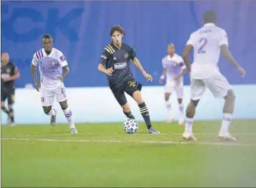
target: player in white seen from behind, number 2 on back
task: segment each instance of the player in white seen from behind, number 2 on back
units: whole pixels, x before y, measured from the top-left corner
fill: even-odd
[[[216,27],[217,16],[213,11],[207,11],[203,15],[204,26],[190,35],[187,46],[183,51],[185,65],[191,78],[191,101],[187,106],[185,118],[185,140],[194,140],[192,133],[193,118],[196,112],[196,106],[203,96],[206,87],[213,93],[215,98],[224,98],[222,126],[219,132],[219,138],[222,140],[236,140],[229,134],[229,124],[231,122],[235,95],[228,80],[220,73],[217,63],[219,61],[220,51],[227,61],[229,61],[236,70],[245,76],[245,70],[236,63],[231,52],[228,49],[228,36],[222,28]],[[190,66],[189,54],[194,48],[194,62]]]

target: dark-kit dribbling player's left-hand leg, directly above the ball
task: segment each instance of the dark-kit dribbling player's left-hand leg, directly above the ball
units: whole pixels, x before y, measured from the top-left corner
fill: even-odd
[[[112,90],[112,93],[121,108],[123,108],[124,115],[126,115],[127,118],[135,119],[135,116],[133,116],[129,104],[127,103],[126,96],[124,95],[124,87],[120,87],[117,90]]]

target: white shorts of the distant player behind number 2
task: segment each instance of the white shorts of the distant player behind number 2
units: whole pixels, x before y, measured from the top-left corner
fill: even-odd
[[[183,98],[183,80],[179,82],[167,82],[165,84],[165,93],[173,93],[175,90],[178,99]]]

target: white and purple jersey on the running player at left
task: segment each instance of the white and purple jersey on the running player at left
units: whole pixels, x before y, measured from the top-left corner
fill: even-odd
[[[56,48],[52,49],[49,56],[43,48],[37,51],[31,63],[39,65],[41,87],[45,89],[55,89],[61,83],[57,77],[62,76],[62,67],[68,65],[65,56]]]

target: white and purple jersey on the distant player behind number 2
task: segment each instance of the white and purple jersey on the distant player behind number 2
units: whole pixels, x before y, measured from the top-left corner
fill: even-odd
[[[166,69],[167,82],[174,82],[174,77],[180,75],[186,68],[182,57],[178,54],[174,54],[172,57],[165,56],[162,59],[162,67]],[[180,77],[180,80],[183,80],[183,76]]]

